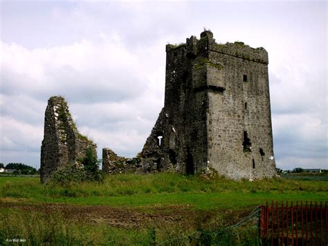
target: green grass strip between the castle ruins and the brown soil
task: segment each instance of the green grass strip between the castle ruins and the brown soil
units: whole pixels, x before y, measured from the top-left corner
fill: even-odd
[[[266,200],[327,200],[328,182],[262,179],[234,181],[224,177],[109,175],[104,183],[42,185],[37,178],[0,177],[0,195],[26,202],[147,207],[152,204],[189,204],[194,209],[243,209]]]

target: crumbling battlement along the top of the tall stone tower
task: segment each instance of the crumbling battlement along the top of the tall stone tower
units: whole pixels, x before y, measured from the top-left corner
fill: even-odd
[[[204,56],[208,51],[213,51],[244,60],[268,64],[268,53],[264,48],[255,49],[244,44],[244,42],[217,44],[210,30],[204,30],[200,39],[191,36],[186,39],[185,44],[167,44],[166,46],[167,53],[176,52],[179,49],[185,49],[189,58],[196,58],[199,55]]]

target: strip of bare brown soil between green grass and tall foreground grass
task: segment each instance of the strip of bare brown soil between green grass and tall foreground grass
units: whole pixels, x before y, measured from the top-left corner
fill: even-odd
[[[105,223],[118,228],[142,228],[147,226],[179,225],[183,228],[195,228],[198,225],[222,225],[228,221],[233,225],[248,211],[197,211],[188,205],[151,206],[142,209],[118,208],[109,206],[73,206],[67,204],[21,204],[17,201],[1,200],[0,209],[21,209],[36,211],[45,215],[60,215],[78,223]]]

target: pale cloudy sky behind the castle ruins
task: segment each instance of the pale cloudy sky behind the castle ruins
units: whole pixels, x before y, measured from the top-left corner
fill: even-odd
[[[0,1],[0,162],[39,167],[47,100],[80,132],[140,152],[163,107],[165,45],[210,28],[263,46],[278,168],[328,168],[326,1]]]

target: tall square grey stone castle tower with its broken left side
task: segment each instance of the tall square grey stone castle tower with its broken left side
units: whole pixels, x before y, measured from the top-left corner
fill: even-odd
[[[273,177],[266,50],[217,44],[205,30],[166,53],[165,104],[141,152],[143,168]]]

